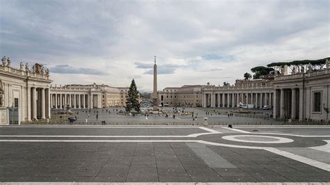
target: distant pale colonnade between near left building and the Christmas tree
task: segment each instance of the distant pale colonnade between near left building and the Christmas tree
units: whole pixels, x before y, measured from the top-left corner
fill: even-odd
[[[52,108],[101,108],[101,95],[52,93]]]

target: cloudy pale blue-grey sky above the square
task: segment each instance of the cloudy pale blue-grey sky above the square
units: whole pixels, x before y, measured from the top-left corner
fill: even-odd
[[[152,91],[231,84],[251,68],[330,54],[329,1],[0,0],[0,55],[53,84]]]

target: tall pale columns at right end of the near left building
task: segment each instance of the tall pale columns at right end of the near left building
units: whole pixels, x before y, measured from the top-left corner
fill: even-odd
[[[26,120],[50,118],[49,88],[29,87],[26,92]]]

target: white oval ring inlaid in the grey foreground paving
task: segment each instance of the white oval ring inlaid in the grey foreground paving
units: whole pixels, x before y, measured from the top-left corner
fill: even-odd
[[[239,139],[238,137],[247,137],[246,139]],[[249,138],[274,138],[275,140],[249,140]],[[274,136],[253,136],[253,135],[233,135],[233,136],[223,136],[223,139],[226,140],[233,140],[237,142],[244,142],[244,143],[291,143],[293,142],[290,138],[281,138],[281,137],[274,137]]]

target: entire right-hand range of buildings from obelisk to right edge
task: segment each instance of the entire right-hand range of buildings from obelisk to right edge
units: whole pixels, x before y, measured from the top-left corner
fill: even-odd
[[[265,79],[236,80],[233,86],[182,86],[159,91],[162,106],[235,108],[239,103],[253,108],[273,108],[274,118],[330,120],[330,67],[288,72]]]

